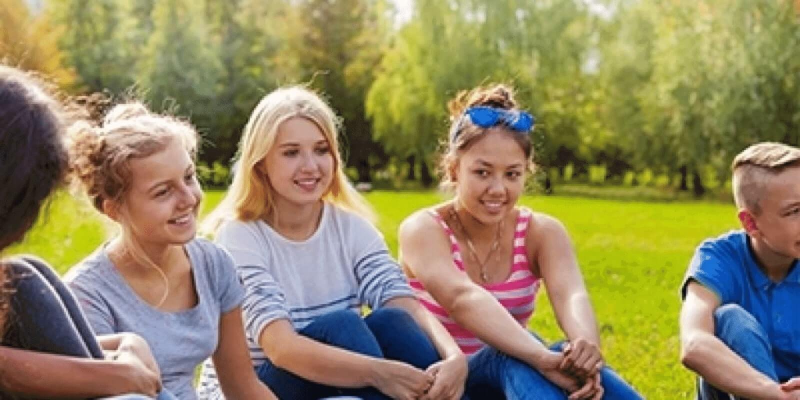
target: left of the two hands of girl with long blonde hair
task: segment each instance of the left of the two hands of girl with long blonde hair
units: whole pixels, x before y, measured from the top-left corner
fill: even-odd
[[[405,362],[378,360],[373,385],[390,398],[416,400],[434,383],[434,377]]]

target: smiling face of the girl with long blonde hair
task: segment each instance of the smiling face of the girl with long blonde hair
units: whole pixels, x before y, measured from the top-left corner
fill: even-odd
[[[262,161],[274,189],[275,206],[311,206],[330,189],[334,156],[322,130],[309,119],[294,117],[278,127],[274,146]]]

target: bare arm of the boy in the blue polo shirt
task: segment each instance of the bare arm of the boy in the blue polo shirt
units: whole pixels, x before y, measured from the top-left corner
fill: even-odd
[[[714,336],[717,295],[689,282],[681,308],[681,362],[720,390],[743,398],[789,398],[777,382],[754,370]],[[720,368],[719,366],[725,366]]]

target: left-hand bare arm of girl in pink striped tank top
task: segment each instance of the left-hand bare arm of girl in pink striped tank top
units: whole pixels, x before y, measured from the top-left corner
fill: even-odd
[[[494,296],[453,266],[450,242],[430,215],[418,212],[406,219],[398,239],[406,268],[458,325],[542,372],[562,361],[561,354],[551,352],[533,338]],[[548,378],[554,382],[560,379],[550,375]],[[575,387],[574,382],[556,383],[573,390]]]

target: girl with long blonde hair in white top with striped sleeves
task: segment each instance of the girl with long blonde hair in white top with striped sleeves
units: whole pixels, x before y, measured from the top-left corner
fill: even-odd
[[[262,98],[207,221],[244,280],[258,376],[280,398],[460,398],[463,354],[414,300],[347,182],[337,121],[303,87]],[[214,390],[212,370],[203,382]]]

